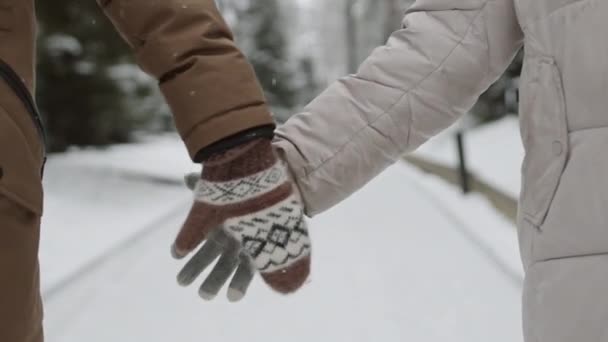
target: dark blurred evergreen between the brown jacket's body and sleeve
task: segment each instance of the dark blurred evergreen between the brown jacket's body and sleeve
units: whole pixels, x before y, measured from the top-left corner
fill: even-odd
[[[130,53],[95,1],[40,1],[37,98],[51,151],[126,142],[145,119],[133,97],[152,82],[125,86]]]

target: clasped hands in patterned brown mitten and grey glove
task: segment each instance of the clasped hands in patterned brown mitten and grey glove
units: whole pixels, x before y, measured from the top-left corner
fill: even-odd
[[[281,293],[299,289],[310,272],[311,244],[304,208],[287,166],[270,141],[258,139],[204,163],[195,202],[172,248],[181,259],[203,245],[178,275],[189,285],[219,256],[200,288],[214,298],[237,269],[228,290],[241,299],[254,270]]]

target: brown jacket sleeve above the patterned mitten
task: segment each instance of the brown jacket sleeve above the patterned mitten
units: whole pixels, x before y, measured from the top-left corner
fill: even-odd
[[[190,155],[251,128],[273,125],[252,67],[214,0],[97,0],[159,80]]]

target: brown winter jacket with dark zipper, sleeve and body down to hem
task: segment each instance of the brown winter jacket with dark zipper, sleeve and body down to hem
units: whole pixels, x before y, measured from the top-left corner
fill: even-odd
[[[193,159],[226,137],[273,125],[253,69],[213,0],[98,3],[133,49],[137,63],[158,79]],[[9,83],[17,88],[24,83],[28,90],[0,82],[0,109],[6,111],[0,111],[0,193],[40,214],[42,129],[32,124],[37,115],[24,108],[24,103],[33,105],[34,12],[33,0],[0,0],[0,60],[11,69],[8,73],[16,73],[12,78],[17,82]]]

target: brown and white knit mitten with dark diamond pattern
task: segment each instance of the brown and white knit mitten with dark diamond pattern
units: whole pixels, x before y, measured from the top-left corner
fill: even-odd
[[[203,165],[174,256],[185,257],[213,230],[223,229],[270,287],[282,293],[300,288],[310,272],[304,209],[270,141],[241,145]]]

